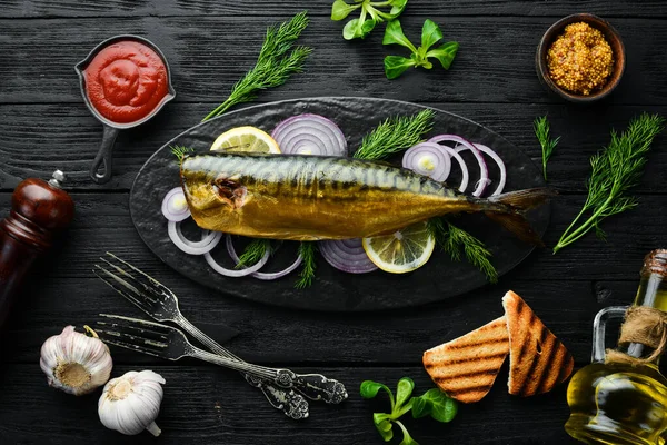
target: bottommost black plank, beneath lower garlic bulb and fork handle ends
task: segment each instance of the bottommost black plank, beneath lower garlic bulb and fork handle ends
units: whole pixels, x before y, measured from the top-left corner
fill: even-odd
[[[112,377],[141,366],[116,366]],[[257,389],[241,378],[212,366],[150,366],[165,377],[165,398],[156,423],[162,428],[161,444],[295,444],[368,445],[382,443],[372,425],[372,413],[389,407],[384,395],[365,400],[358,387],[364,379],[384,382],[390,387],[404,376],[415,379],[420,395],[432,383],[420,367],[301,368],[322,372],[346,384],[350,397],[341,405],[310,404],[310,417],[295,422],[275,411]],[[567,407],[560,402],[565,387],[554,393],[521,399],[507,394],[507,372],[480,403],[460,406],[449,424],[405,416],[410,435],[420,444],[537,445],[571,444],[563,424]],[[98,419],[92,395],[72,397],[47,386],[37,365],[7,365],[0,382],[11,383],[0,392],[0,439],[20,444],[143,444],[148,433],[121,436],[106,429]],[[3,385],[4,386],[4,385]],[[28,407],[34,407],[29,409]],[[39,408],[37,408],[39,407]],[[532,413],[526,416],[526,413]],[[508,419],[512,419],[508,423]],[[404,418],[401,418],[404,421]],[[396,437],[400,437],[398,427]],[[396,442],[398,443],[398,441]]]

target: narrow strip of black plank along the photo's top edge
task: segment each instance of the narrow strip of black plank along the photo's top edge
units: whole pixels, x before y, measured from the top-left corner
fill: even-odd
[[[4,0],[0,17],[143,17],[143,16],[269,16],[295,13],[308,8],[311,14],[328,17],[334,0]],[[606,17],[655,17],[665,14],[661,0],[645,0],[636,8],[631,0],[438,0],[410,1],[408,13],[432,16],[434,11],[448,16],[566,16],[573,12],[591,12]]]

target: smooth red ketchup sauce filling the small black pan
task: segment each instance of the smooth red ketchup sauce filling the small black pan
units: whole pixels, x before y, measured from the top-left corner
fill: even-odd
[[[146,118],[169,93],[165,62],[156,51],[138,41],[123,40],[103,48],[83,76],[90,103],[117,123]]]

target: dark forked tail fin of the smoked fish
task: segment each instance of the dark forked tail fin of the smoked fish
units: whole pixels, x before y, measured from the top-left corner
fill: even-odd
[[[491,209],[486,211],[486,216],[511,231],[520,240],[544,247],[544,241],[530,227],[525,212],[545,204],[556,195],[556,191],[549,188],[530,188],[494,196],[488,199]]]

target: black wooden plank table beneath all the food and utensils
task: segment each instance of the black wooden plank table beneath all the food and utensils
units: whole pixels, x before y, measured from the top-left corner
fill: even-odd
[[[660,137],[638,187],[640,206],[605,222],[608,243],[588,236],[551,255],[535,251],[497,285],[440,304],[368,314],[296,312],[218,295],[163,265],[137,235],[128,211],[132,179],[165,141],[197,123],[252,66],[270,22],[307,8],[312,18],[305,44],[315,49],[308,68],[259,101],[365,96],[429,105],[476,120],[504,135],[536,160],[535,117],[549,113],[563,139],[550,167],[554,202],[546,243],[554,245],[584,200],[588,159],[640,111],[667,115],[667,3],[664,0],[410,0],[401,19],[411,37],[426,18],[446,39],[460,42],[450,71],[414,71],[395,81],[382,72],[389,53],[381,31],[347,42],[329,19],[331,0],[32,0],[0,2],[0,214],[27,177],[67,171],[77,217],[63,243],[32,273],[0,343],[1,444],[379,444],[374,411],[358,386],[370,378],[394,386],[410,376],[417,392],[432,386],[421,353],[501,314],[500,297],[514,289],[573,352],[577,367],[590,355],[597,310],[631,301],[643,256],[666,247],[667,138]],[[627,70],[605,102],[584,108],[549,97],[535,75],[534,57],[545,30],[560,17],[593,12],[621,33]],[[83,106],[73,71],[99,41],[135,33],[166,53],[178,91],[158,117],[125,131],[117,141],[116,175],[96,186],[88,169],[101,127]],[[166,379],[158,418],[162,436],[125,437],[98,421],[99,392],[73,397],[47,386],[42,342],[66,325],[82,326],[97,314],[140,315],[91,273],[96,258],[113,250],[172,288],[186,315],[216,337],[230,326],[240,334],[228,346],[249,360],[299,372],[322,372],[344,382],[349,400],[311,404],[306,422],[269,407],[233,372],[195,360],[170,363],[113,349],[113,376],[153,369]],[[444,278],[446,278],[446,271]],[[312,295],[312,298],[318,298]],[[511,397],[507,370],[480,403],[461,406],[447,425],[408,419],[421,444],[565,444],[565,385],[529,399]],[[395,439],[395,443],[399,441]]]

